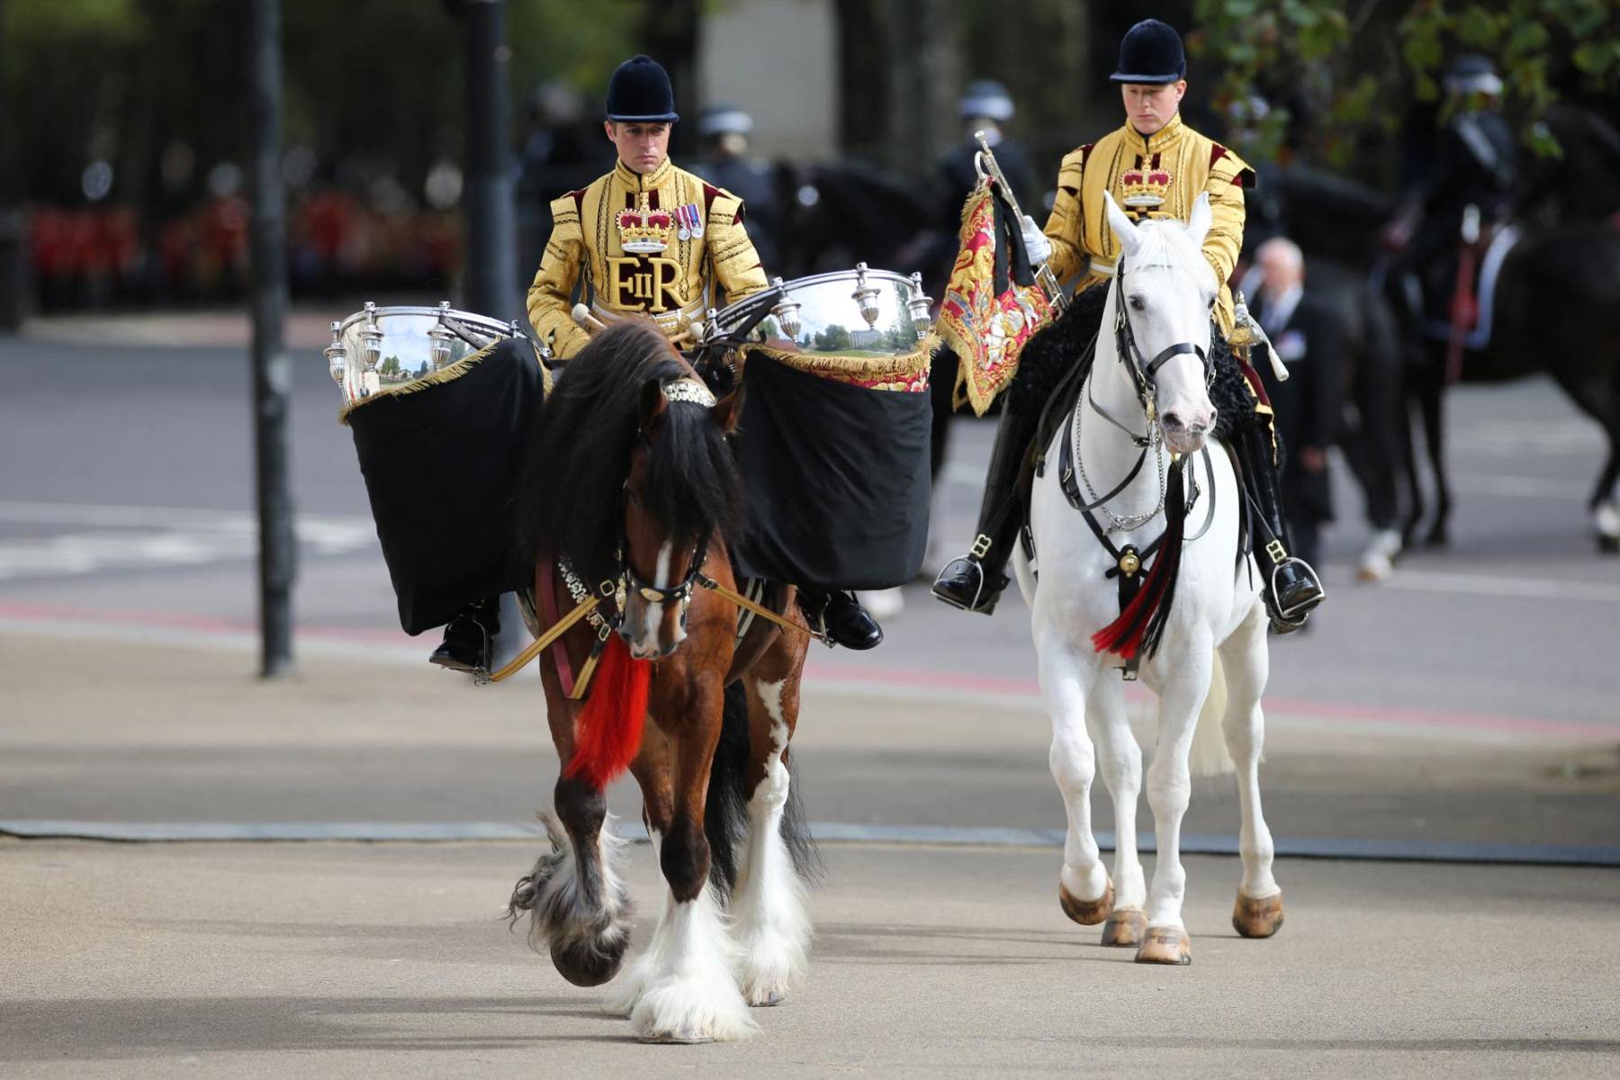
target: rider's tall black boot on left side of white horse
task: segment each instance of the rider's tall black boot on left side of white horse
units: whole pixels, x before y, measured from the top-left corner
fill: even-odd
[[[978,507],[978,538],[972,551],[946,563],[933,583],[933,594],[953,607],[988,615],[1008,586],[1008,559],[1024,526],[1019,476],[1038,424],[1040,410],[1021,410],[1014,395],[1001,395],[1001,424],[985,473],[985,500]]]

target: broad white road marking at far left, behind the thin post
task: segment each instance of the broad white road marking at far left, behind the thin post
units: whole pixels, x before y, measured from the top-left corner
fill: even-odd
[[[0,539],[0,581],[105,570],[191,567],[253,559],[258,518],[243,510],[0,502],[0,523],[76,531]],[[313,557],[374,551],[371,518],[298,515],[293,534]]]

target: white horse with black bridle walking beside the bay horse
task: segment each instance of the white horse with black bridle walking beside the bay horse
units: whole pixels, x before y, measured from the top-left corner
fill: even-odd
[[[1259,568],[1251,555],[1238,557],[1238,478],[1220,444],[1210,440],[1215,408],[1205,366],[1217,282],[1200,253],[1210,228],[1209,198],[1199,196],[1186,225],[1132,223],[1110,199],[1108,222],[1119,238],[1119,275],[1110,285],[1095,363],[1076,411],[1047,447],[1032,494],[1038,580],[1022,552],[1016,570],[1032,609],[1040,688],[1051,714],[1051,774],[1069,818],[1058,879],[1063,910],[1082,925],[1106,920],[1103,942],[1137,946],[1139,962],[1189,963],[1179,853],[1192,789],[1189,758],[1213,758],[1215,767],[1200,771],[1230,771],[1236,763],[1243,882],[1233,925],[1246,938],[1268,938],[1283,921],[1259,784],[1267,615]],[[1116,322],[1119,304],[1124,322]],[[1105,549],[1063,491],[1058,463],[1063,440],[1071,437],[1072,484],[1084,504],[1100,502],[1095,520],[1111,529],[1108,539],[1124,559]],[[1207,440],[1212,445],[1205,450]],[[1166,470],[1170,455],[1184,455],[1184,484],[1179,470]],[[1131,478],[1137,461],[1142,466]],[[1121,562],[1129,568],[1136,559],[1139,573],[1150,576],[1163,559],[1145,552],[1165,529],[1165,505],[1174,499],[1191,499],[1191,507],[1173,604],[1157,651],[1140,657],[1140,678],[1160,706],[1158,748],[1147,769],[1158,861],[1147,889],[1136,847],[1142,751],[1126,719],[1121,657],[1098,651],[1092,635],[1121,614],[1116,578],[1105,575]],[[1128,544],[1132,549],[1124,552]],[[1196,737],[1196,730],[1213,727],[1200,719],[1220,719],[1230,758],[1218,737]],[[1090,787],[1098,759],[1115,800],[1111,879],[1092,836]]]

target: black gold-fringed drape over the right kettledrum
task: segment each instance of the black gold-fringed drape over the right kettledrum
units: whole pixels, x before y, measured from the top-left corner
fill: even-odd
[[[748,350],[739,575],[834,589],[917,576],[928,549],[927,372],[927,348],[875,358]]]

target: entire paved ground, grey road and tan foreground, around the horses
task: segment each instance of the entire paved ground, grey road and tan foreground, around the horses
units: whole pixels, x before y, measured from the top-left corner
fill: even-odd
[[[340,314],[340,313],[339,313]],[[309,317],[305,322],[319,324]],[[531,678],[475,690],[407,640],[337,395],[293,381],[300,672],[253,677],[240,325],[0,337],[0,821],[522,823],[557,763]],[[1453,400],[1456,546],[1349,585],[1278,641],[1280,840],[1614,848],[1620,560],[1584,494],[1597,432],[1547,385]],[[970,533],[987,424],[959,426],[936,523]],[[1055,829],[1022,607],[923,586],[875,654],[818,649],[797,746],[818,823]],[[1139,706],[1140,708],[1140,706]],[[1098,801],[1097,826],[1111,827]],[[637,816],[620,784],[616,813]],[[1230,836],[1202,782],[1189,832]],[[1145,813],[1145,811],[1144,811]],[[1027,836],[1024,832],[1017,836]],[[1196,962],[1063,920],[1051,847],[829,844],[812,981],[745,1046],[642,1048],[494,918],[535,844],[0,839],[6,1075],[1610,1075],[1617,873],[1281,858],[1288,926],[1231,936],[1236,863],[1189,857]],[[650,931],[658,882],[635,848]]]

